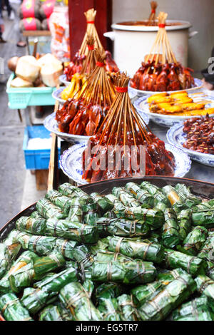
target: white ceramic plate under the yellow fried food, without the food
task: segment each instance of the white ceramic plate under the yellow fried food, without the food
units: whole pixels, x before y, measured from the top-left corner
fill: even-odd
[[[138,113],[146,113],[151,120],[153,120],[154,123],[157,123],[158,125],[162,125],[163,127],[170,128],[175,123],[179,123],[183,120],[186,120],[187,118],[199,118],[200,115],[193,115],[193,116],[182,116],[182,115],[165,115],[165,114],[158,114],[158,113],[151,113],[149,110],[149,105],[146,102],[148,96],[142,96],[141,98],[138,98],[133,105],[135,106],[136,110],[138,110]],[[196,100],[194,98],[193,100]],[[214,107],[214,98],[213,96],[206,97],[206,100],[210,100],[211,103],[207,103],[205,105],[206,108],[213,108]],[[214,114],[210,114],[210,116],[214,116]]]

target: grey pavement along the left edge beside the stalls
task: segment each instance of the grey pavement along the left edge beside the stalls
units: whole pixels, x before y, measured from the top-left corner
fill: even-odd
[[[12,6],[17,8],[16,4]],[[16,46],[20,37],[17,20],[16,16],[15,21],[9,21],[4,12],[4,39],[7,43],[0,44],[0,57],[4,58],[4,76],[0,75],[0,227],[44,195],[44,192],[36,190],[35,176],[25,168],[22,150],[26,126],[24,110],[21,110],[21,123],[17,110],[8,107],[6,81],[11,72],[7,60],[26,54],[26,48]]]

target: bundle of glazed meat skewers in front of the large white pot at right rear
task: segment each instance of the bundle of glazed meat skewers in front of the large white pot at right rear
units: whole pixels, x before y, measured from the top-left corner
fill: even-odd
[[[150,53],[131,78],[131,87],[140,91],[183,91],[195,87],[190,68],[179,63],[170,46],[165,21],[168,14],[158,15],[158,31]]]

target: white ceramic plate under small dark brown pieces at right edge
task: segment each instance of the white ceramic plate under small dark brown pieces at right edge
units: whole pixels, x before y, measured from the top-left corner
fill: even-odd
[[[173,127],[168,130],[166,136],[170,144],[182,149],[190,156],[192,160],[196,160],[201,164],[214,167],[214,155],[208,153],[198,153],[198,151],[183,148],[183,143],[186,140],[185,133],[183,133],[183,123],[176,123],[173,125]]]

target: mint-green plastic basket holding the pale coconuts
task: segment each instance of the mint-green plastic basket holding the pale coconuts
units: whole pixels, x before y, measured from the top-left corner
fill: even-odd
[[[24,109],[28,106],[36,105],[55,105],[55,99],[52,97],[55,87],[27,87],[12,88],[11,81],[15,74],[12,73],[6,83],[6,93],[9,98],[9,108]]]

